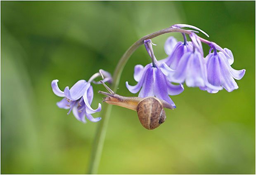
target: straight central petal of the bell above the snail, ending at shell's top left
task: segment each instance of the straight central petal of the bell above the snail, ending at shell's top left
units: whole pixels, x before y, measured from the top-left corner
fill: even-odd
[[[153,79],[153,70],[155,67],[148,68],[145,72],[145,78],[143,81],[142,88],[140,90],[139,96],[141,98],[153,97],[154,96],[154,79]]]

